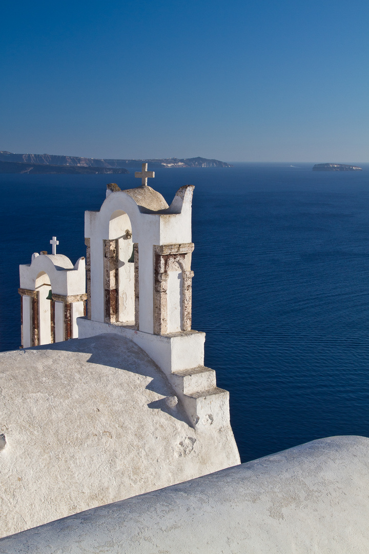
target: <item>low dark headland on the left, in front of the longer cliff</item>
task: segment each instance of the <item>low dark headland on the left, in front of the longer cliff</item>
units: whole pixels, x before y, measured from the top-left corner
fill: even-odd
[[[51,166],[40,163],[19,163],[0,161],[0,173],[35,173],[37,175],[50,173],[67,173],[70,175],[86,174],[95,175],[96,173],[129,173],[124,168],[113,167],[81,167],[81,166]]]

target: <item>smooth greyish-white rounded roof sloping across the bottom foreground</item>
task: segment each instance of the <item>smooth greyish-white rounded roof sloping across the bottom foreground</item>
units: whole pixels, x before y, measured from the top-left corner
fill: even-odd
[[[5,538],[0,554],[367,554],[368,496],[369,439],[330,437]]]

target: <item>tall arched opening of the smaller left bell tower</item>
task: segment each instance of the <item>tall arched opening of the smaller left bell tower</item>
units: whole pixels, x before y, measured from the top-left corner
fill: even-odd
[[[40,271],[35,280],[38,296],[38,344],[47,345],[54,342],[54,329],[51,314],[51,283],[45,271]]]

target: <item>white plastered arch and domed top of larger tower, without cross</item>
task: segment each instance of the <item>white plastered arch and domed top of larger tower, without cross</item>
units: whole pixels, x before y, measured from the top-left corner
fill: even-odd
[[[85,237],[91,255],[91,319],[105,322],[109,310],[105,301],[104,240],[109,240],[112,216],[127,214],[132,225],[132,242],[138,244],[139,329],[153,333],[153,247],[191,242],[193,186],[181,187],[171,206],[151,187],[107,191],[100,211],[85,212]],[[114,219],[114,218],[113,218]],[[112,287],[113,290],[114,287]]]

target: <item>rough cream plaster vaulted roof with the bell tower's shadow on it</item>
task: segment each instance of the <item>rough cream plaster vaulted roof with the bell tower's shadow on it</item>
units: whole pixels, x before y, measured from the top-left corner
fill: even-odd
[[[1,353],[0,391],[0,536],[237,460],[231,428],[190,427],[163,373],[122,336]]]

